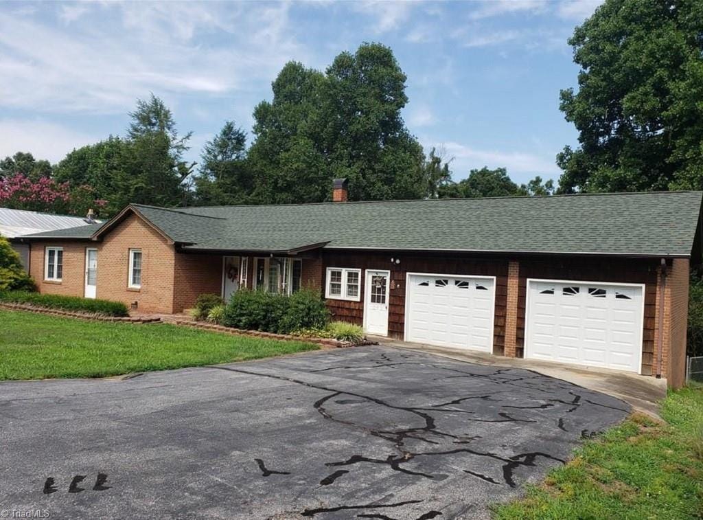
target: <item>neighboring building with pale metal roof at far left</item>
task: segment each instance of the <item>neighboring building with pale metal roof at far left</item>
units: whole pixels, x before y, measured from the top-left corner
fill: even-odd
[[[39,211],[13,210],[0,208],[0,236],[13,239],[16,236],[36,234],[67,227],[81,227],[89,224],[91,215],[86,218],[70,217],[68,215],[53,215]],[[95,220],[94,222],[100,222]],[[30,246],[26,243],[15,242],[13,249],[20,253],[20,260],[25,269],[30,265]]]

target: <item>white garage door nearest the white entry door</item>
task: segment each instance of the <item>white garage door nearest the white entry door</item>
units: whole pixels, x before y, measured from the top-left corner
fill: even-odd
[[[406,341],[493,350],[495,280],[408,274]]]

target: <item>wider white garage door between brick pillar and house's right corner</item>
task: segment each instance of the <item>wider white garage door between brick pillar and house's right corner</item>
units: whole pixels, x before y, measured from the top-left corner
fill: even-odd
[[[527,282],[525,357],[640,372],[643,288]]]

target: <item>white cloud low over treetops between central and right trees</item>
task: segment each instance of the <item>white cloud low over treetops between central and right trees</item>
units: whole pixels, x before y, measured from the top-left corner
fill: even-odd
[[[541,175],[545,179],[558,177],[561,171],[555,164],[554,158],[536,156],[531,153],[482,150],[453,141],[441,143],[430,139],[423,140],[423,144],[425,144],[426,150],[431,149],[433,146],[437,148],[444,147],[446,157],[454,158],[451,168],[454,172],[453,177],[456,180],[467,177],[469,170],[472,168],[484,166],[489,168],[507,168],[508,175],[515,182],[526,182],[529,177],[534,177],[534,175]]]

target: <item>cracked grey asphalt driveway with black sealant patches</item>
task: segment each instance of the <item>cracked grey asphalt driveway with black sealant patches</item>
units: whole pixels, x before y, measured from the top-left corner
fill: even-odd
[[[382,347],[6,382],[0,511],[481,518],[628,410],[527,370]]]

